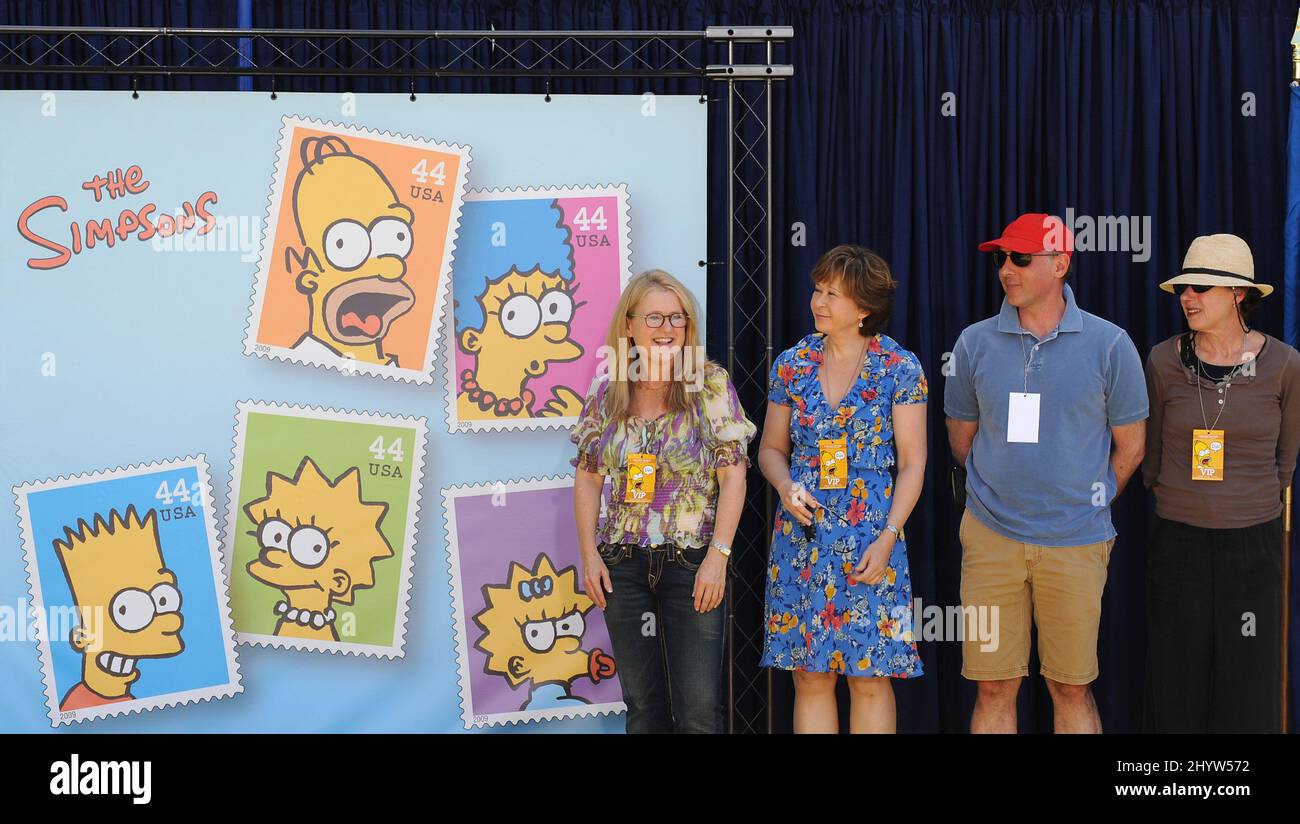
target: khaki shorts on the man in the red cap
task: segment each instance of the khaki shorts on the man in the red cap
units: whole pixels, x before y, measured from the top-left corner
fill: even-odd
[[[966,615],[962,676],[1002,681],[1030,675],[1032,620],[1039,626],[1044,677],[1060,684],[1095,681],[1101,591],[1114,539],[1087,546],[1022,543],[993,532],[970,511],[962,516],[959,537]],[[992,607],[997,607],[996,624]],[[972,632],[972,620],[996,632],[985,632],[982,639]],[[992,642],[996,647],[988,649]]]

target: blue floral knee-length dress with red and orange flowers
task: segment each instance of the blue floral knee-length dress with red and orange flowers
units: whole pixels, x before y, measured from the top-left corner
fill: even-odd
[[[875,335],[864,368],[838,406],[823,395],[826,337],[807,335],[772,365],[767,398],[790,407],[790,477],[816,496],[814,525],[780,507],[767,574],[762,665],[850,676],[911,678],[923,673],[913,636],[907,546],[894,543],[880,584],[850,585],[848,574],[884,529],[896,463],[893,406],[926,403],[920,361]],[[822,438],[848,438],[844,490],[819,486]]]

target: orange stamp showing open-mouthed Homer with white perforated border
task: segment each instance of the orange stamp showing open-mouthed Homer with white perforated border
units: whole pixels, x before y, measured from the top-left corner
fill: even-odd
[[[285,117],[244,354],[428,383],[469,148]]]

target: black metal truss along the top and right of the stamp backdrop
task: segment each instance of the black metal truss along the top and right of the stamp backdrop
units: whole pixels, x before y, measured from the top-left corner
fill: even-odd
[[[441,78],[699,78],[724,86],[727,116],[727,370],[741,403],[767,406],[772,364],[772,90],[793,74],[774,62],[789,26],[703,31],[354,31],[0,26],[0,75]],[[73,79],[73,83],[77,81]],[[582,91],[576,86],[572,91]],[[716,309],[715,309],[716,311]],[[757,451],[757,444],[753,447]],[[771,732],[763,649],[772,495],[750,470],[727,597],[727,729]]]

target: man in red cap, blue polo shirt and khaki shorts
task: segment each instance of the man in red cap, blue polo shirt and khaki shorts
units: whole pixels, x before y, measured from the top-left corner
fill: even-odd
[[[962,642],[962,675],[979,684],[971,732],[1015,732],[1032,623],[1056,730],[1101,732],[1089,685],[1110,502],[1143,457],[1141,359],[1123,329],[1075,303],[1074,238],[1060,218],[1022,214],[979,248],[1006,299],[962,331],[944,387],[948,441],[966,467],[962,606],[996,613],[979,625],[997,628]]]

